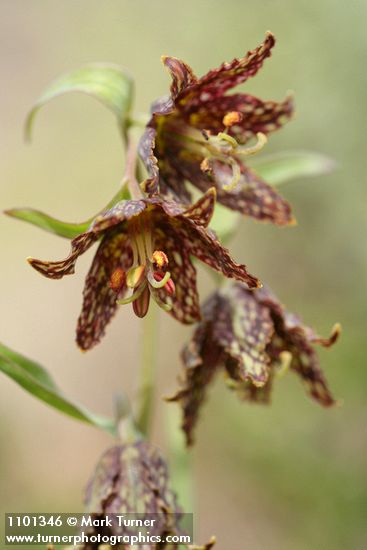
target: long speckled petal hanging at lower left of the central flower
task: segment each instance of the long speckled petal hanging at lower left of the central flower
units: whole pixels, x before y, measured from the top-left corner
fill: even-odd
[[[82,350],[91,349],[105,334],[105,328],[117,309],[117,298],[122,298],[110,288],[109,281],[116,268],[125,272],[131,267],[132,252],[125,234],[108,232],[99,245],[85,281],[83,306],[77,325],[76,341]]]

